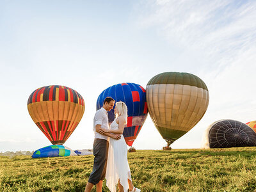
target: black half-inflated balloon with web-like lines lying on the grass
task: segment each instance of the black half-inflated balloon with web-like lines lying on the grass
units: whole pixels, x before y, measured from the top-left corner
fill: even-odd
[[[256,133],[251,127],[236,120],[220,120],[209,130],[210,148],[253,147]]]

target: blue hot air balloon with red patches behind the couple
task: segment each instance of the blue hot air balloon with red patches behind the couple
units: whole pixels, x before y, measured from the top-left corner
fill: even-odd
[[[144,124],[148,109],[146,102],[145,89],[136,83],[120,83],[110,86],[102,93],[100,93],[96,109],[100,109],[103,106],[104,99],[106,97],[112,97],[115,101],[125,102],[128,108],[127,125],[124,128],[124,139],[127,145],[130,147],[134,140],[136,140],[142,125]],[[114,110],[108,112],[109,123],[115,119]]]

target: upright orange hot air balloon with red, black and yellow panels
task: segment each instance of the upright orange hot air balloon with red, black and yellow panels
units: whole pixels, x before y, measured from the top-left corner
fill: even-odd
[[[44,86],[29,96],[28,111],[53,145],[63,144],[83,116],[84,100],[67,86]]]

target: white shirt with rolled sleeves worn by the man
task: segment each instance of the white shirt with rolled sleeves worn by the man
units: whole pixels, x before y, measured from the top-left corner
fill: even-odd
[[[109,140],[108,136],[104,136],[96,131],[96,125],[101,125],[101,128],[109,129],[108,127],[108,111],[104,108],[100,108],[93,118],[93,131],[95,139]]]

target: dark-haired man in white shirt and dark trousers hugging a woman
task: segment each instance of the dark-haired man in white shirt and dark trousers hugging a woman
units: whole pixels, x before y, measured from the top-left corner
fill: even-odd
[[[100,134],[99,130],[109,129],[108,127],[108,111],[113,109],[115,100],[111,97],[106,97],[103,107],[100,108],[94,116],[93,131],[95,132],[95,140],[93,142],[93,170],[86,184],[85,192],[90,192],[93,185],[96,185],[97,192],[102,191],[102,182],[106,175],[106,166],[108,160],[108,139],[109,137],[119,140],[119,134],[104,133]]]

